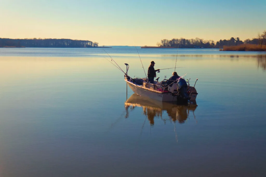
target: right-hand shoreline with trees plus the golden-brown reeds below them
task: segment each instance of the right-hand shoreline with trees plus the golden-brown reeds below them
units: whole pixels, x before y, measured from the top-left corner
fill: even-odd
[[[240,40],[239,37],[231,37],[228,40],[224,39],[217,42],[214,42],[213,40],[203,40],[197,37],[195,39],[173,38],[171,40],[163,39],[160,42],[157,42],[156,45],[157,46],[143,46],[142,48],[224,48],[227,50],[231,47],[232,50],[241,48],[240,50],[242,51],[244,45],[246,46],[245,49],[249,51],[264,51],[262,49],[265,49],[266,46],[266,30],[261,34],[259,33],[257,38],[246,39],[244,41]]]

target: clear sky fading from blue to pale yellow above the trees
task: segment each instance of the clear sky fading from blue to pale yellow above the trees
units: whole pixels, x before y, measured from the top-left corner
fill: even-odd
[[[265,0],[0,0],[0,38],[69,38],[155,46],[162,39],[252,39]]]

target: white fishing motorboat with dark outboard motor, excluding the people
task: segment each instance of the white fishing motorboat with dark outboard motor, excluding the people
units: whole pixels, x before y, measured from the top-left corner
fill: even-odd
[[[131,88],[131,90],[139,96],[148,97],[157,101],[174,101],[178,103],[191,103],[196,101],[198,92],[194,87],[190,86],[189,80],[185,81],[183,76],[174,80],[171,84],[167,84],[168,79],[163,79],[159,82],[159,78],[155,79],[154,83],[151,84],[147,78],[131,78],[127,75],[127,71],[124,75],[124,80]]]

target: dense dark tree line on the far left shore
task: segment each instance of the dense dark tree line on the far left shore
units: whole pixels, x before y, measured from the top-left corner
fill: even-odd
[[[0,46],[25,46],[25,47],[57,47],[57,48],[90,48],[98,47],[98,42],[72,39],[9,39],[0,38]]]

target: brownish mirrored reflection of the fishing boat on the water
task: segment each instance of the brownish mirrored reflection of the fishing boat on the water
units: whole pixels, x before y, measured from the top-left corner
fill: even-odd
[[[189,117],[189,114],[192,112],[194,119],[196,119],[194,111],[196,110],[197,104],[194,102],[188,106],[177,105],[174,104],[174,102],[156,101],[134,93],[125,102],[125,107],[126,118],[129,116],[129,110],[132,111],[135,107],[143,107],[143,114],[147,116],[151,126],[153,126],[154,118],[160,118],[164,122],[170,120],[171,122],[178,121],[178,123],[184,123]],[[168,114],[168,118],[165,118],[166,116],[162,116],[164,111]]]

